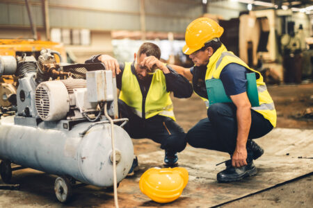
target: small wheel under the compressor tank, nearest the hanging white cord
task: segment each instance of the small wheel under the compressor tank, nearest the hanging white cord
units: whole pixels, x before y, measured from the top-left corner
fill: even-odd
[[[64,176],[57,177],[56,182],[54,182],[54,192],[56,193],[56,198],[60,202],[67,202],[72,196],[72,186],[70,180]]]

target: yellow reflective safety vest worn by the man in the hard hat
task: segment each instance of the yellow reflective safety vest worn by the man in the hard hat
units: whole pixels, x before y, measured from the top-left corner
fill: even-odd
[[[276,126],[276,110],[274,102],[267,91],[266,85],[263,81],[263,77],[259,71],[255,71],[248,67],[248,65],[238,58],[234,53],[227,51],[224,45],[220,46],[218,50],[210,57],[209,63],[207,64],[207,72],[205,74],[205,80],[211,78],[220,78],[220,72],[227,66],[227,64],[236,63],[246,69],[255,72],[257,76],[257,92],[259,94],[259,106],[252,107],[252,110],[259,112],[264,116],[265,119],[271,122],[273,127]]]

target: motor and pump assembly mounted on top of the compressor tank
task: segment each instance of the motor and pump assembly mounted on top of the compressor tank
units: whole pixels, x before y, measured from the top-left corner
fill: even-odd
[[[103,64],[60,66],[54,55],[61,59],[57,51],[49,49],[40,51],[38,60],[26,55],[16,59],[1,56],[0,76],[14,74],[19,78],[15,124],[33,126],[39,121],[97,121],[105,119],[102,113],[104,102],[109,104],[109,115],[116,118],[112,72],[104,71]],[[76,70],[77,65],[84,70],[83,78],[76,78],[81,74]]]

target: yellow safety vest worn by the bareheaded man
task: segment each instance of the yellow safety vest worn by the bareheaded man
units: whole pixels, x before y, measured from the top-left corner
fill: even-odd
[[[120,97],[135,114],[141,118],[149,119],[157,114],[168,116],[176,121],[170,92],[166,91],[166,78],[163,71],[157,69],[153,74],[152,82],[147,92],[147,98],[143,101],[141,87],[134,73],[131,72],[131,62],[125,63],[125,69],[122,73],[122,89]],[[143,114],[143,107],[145,113]]]

